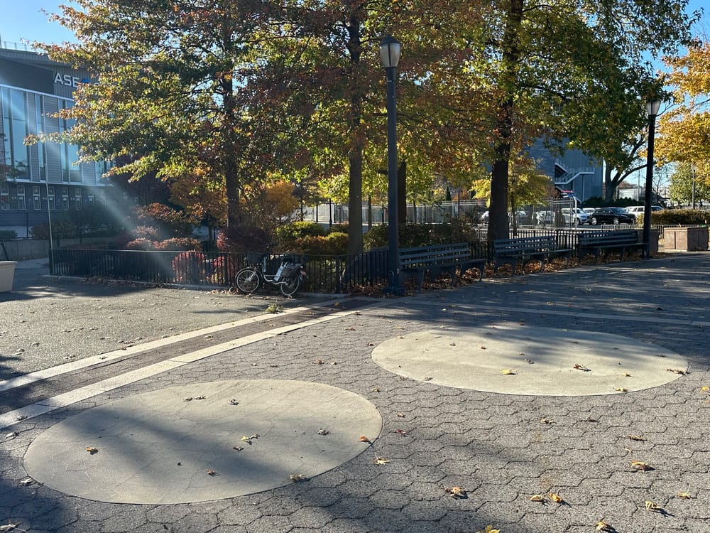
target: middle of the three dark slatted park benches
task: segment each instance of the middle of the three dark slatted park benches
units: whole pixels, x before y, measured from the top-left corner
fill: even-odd
[[[493,269],[503,264],[513,266],[513,275],[518,266],[518,262],[525,266],[531,261],[540,263],[540,272],[545,269],[545,261],[550,257],[563,256],[566,265],[569,266],[569,258],[572,257],[571,248],[560,248],[555,235],[538,235],[536,237],[516,237],[513,239],[495,239],[493,241]]]

